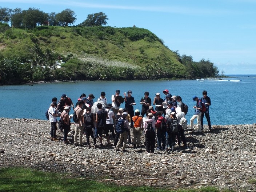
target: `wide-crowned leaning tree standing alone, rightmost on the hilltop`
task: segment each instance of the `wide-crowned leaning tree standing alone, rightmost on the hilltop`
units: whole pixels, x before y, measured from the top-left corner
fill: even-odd
[[[93,26],[102,26],[102,25],[107,25],[107,15],[103,12],[99,13],[93,13],[89,14],[87,16],[87,19],[83,22],[80,23],[79,26],[82,27],[93,27]]]

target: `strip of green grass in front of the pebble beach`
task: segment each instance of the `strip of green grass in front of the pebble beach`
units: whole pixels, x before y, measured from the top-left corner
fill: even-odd
[[[166,188],[145,186],[118,186],[105,184],[93,180],[79,178],[65,178],[60,173],[35,171],[25,168],[1,168],[0,169],[0,192],[171,192]],[[201,189],[178,190],[179,192],[219,192],[213,187]],[[174,192],[174,191],[173,191]]]

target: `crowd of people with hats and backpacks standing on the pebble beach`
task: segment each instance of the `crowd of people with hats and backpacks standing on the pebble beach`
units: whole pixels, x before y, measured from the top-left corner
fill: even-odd
[[[76,105],[72,100],[63,94],[60,101],[57,103],[57,98],[53,97],[51,106],[48,110],[49,121],[51,123],[51,140],[59,141],[56,136],[57,131],[57,116],[60,116],[61,126],[60,131],[64,132],[64,143],[67,144],[68,132],[70,131],[72,115],[69,114],[71,107],[73,107],[73,121],[75,122],[74,144],[83,147],[83,134],[86,135],[87,147],[91,148],[90,136],[93,139],[93,148],[103,147],[102,136],[103,133],[107,139],[106,147],[114,146],[116,151],[126,151],[126,145],[131,144],[133,148],[139,148],[141,143],[141,136],[145,136],[145,146],[148,153],[154,153],[155,143],[157,141],[157,150],[168,149],[174,151],[175,142],[181,147],[187,148],[187,141],[184,135],[187,127],[187,120],[185,119],[186,105],[182,102],[180,96],[171,95],[168,89],[163,91],[164,98],[160,97],[160,93],[156,93],[152,100],[149,97],[149,92],[144,93],[140,104],[141,111],[133,106],[136,105],[135,99],[132,96],[132,91],[124,93],[124,97],[120,96],[120,90],[112,95],[112,103],[107,103],[105,92],[101,92],[97,101],[97,112],[92,113],[95,97],[89,94],[88,97],[83,93],[79,97]],[[203,97],[200,99],[193,96],[192,99],[196,101],[194,115],[190,119],[190,128],[193,129],[193,121],[197,119],[197,131],[201,132],[203,129],[204,115],[208,122],[209,130],[212,131],[211,121],[209,117],[209,105],[211,99],[207,96],[207,91],[203,91]],[[125,103],[125,108],[120,108],[121,103]],[[203,105],[205,107],[203,107]],[[185,112],[185,113],[184,113]],[[120,130],[122,129],[122,130]],[[133,131],[133,142],[131,140],[130,129]],[[113,142],[110,141],[110,135]],[[100,144],[96,144],[96,139],[99,138]]]

